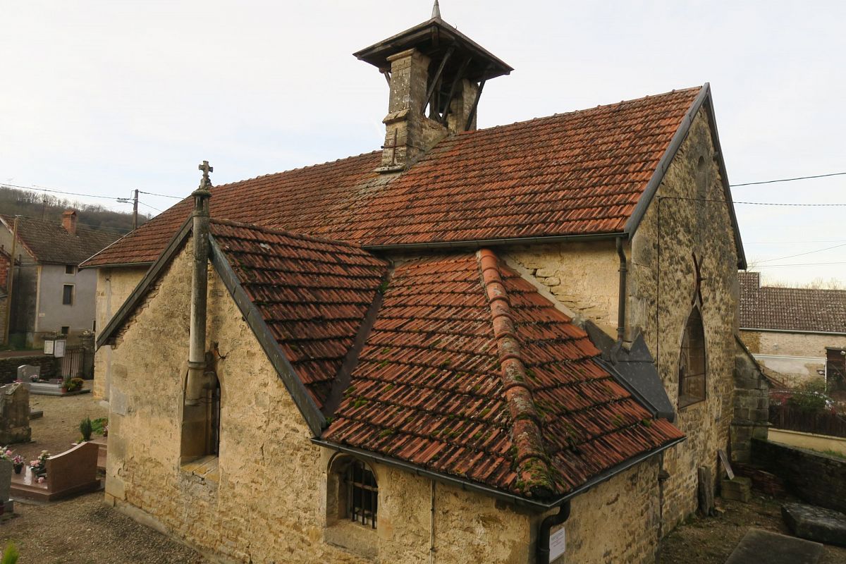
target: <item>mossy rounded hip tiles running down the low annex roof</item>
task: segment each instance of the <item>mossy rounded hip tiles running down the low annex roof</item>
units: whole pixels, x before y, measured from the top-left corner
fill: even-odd
[[[543,447],[539,415],[526,384],[525,365],[520,356],[514,315],[508,301],[508,291],[499,271],[499,260],[491,249],[478,253],[482,287],[491,309],[493,335],[497,339],[503,396],[511,413],[511,438],[517,450],[514,457],[521,481],[531,496],[549,497],[556,491],[549,468],[549,455]]]

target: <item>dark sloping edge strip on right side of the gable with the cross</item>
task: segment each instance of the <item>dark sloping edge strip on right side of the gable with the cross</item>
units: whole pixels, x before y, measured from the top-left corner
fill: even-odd
[[[273,337],[270,328],[261,316],[261,312],[255,307],[255,304],[247,296],[247,293],[244,292],[244,287],[241,286],[238,277],[232,270],[232,266],[226,260],[226,255],[223,255],[222,250],[211,233],[209,234],[209,244],[211,247],[211,264],[215,267],[217,274],[220,275],[223,285],[226,286],[229,295],[232,296],[235,304],[238,305],[241,315],[244,315],[244,320],[250,326],[259,344],[261,344],[261,349],[267,355],[267,359],[270,360],[273,368],[276,369],[279,379],[282,380],[288,393],[291,394],[291,399],[294,400],[299,413],[302,413],[305,424],[309,426],[312,435],[319,436],[321,430],[327,425],[326,418],[323,417],[320,408],[317,408],[315,401],[311,399],[303,382],[299,380],[294,367],[291,366],[291,363],[285,357],[282,348],[279,347],[279,343]]]

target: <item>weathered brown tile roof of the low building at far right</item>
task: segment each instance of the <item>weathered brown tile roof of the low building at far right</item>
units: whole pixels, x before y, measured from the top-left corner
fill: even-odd
[[[846,290],[761,286],[759,272],[738,272],[740,326],[846,333]]]

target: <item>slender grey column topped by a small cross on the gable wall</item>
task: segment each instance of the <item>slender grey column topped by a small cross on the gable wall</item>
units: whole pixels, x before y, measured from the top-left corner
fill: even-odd
[[[194,272],[191,276],[191,325],[188,349],[188,379],[185,382],[185,405],[199,405],[206,372],[206,300],[208,292],[209,199],[211,180],[208,161],[200,165],[203,178],[194,193],[192,239]]]

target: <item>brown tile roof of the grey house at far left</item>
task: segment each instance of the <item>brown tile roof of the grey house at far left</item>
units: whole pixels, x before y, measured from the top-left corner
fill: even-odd
[[[0,216],[11,232],[14,216]],[[170,234],[173,236],[173,233]],[[59,223],[42,222],[21,217],[18,220],[18,239],[38,262],[79,265],[85,259],[112,244],[117,233],[77,225],[72,235]],[[161,252],[162,249],[159,249]]]

